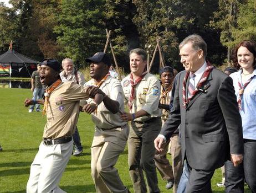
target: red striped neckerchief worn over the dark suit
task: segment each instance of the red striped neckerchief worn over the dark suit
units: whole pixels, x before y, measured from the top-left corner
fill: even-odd
[[[202,87],[203,83],[207,81],[207,78],[209,77],[209,74],[212,72],[213,68],[214,68],[214,66],[212,66],[211,63],[209,63],[207,61],[207,67],[204,70],[200,81],[198,82],[197,86],[195,87],[195,89],[193,90],[191,95],[188,96],[188,98],[186,98],[186,84],[187,84],[188,76],[190,76],[190,72],[186,73],[186,76],[183,81],[183,88],[182,88],[183,106],[185,107],[185,109],[187,108],[187,104],[190,102],[190,100],[193,98],[193,96],[198,93],[198,88]]]

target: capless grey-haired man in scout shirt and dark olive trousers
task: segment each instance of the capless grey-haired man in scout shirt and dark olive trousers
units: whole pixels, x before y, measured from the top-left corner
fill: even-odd
[[[153,140],[161,130],[161,110],[158,109],[160,82],[145,71],[147,53],[142,49],[130,51],[131,73],[121,84],[130,113],[121,118],[131,121],[128,139],[128,164],[135,192],[147,192],[142,169],[150,192],[160,192],[153,158],[156,149]]]

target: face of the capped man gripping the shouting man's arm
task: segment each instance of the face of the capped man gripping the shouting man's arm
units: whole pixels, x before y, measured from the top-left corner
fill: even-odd
[[[101,81],[108,71],[109,66],[105,65],[104,62],[91,62],[90,64],[90,77],[97,82]]]

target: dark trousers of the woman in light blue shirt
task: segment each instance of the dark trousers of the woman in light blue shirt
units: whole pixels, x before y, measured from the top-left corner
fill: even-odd
[[[256,140],[244,140],[243,164],[234,167],[231,161],[225,163],[226,192],[244,192],[244,179],[250,190],[256,193]]]

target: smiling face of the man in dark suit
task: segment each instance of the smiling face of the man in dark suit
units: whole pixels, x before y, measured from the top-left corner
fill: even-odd
[[[196,72],[204,63],[203,51],[194,50],[192,42],[180,48],[181,63],[186,71]]]

